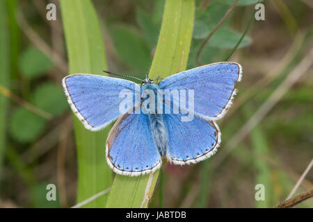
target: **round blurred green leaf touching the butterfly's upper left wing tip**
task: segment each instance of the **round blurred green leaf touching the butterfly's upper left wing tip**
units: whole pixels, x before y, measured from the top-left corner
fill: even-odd
[[[53,115],[63,114],[69,109],[63,89],[54,83],[43,83],[36,87],[32,95],[32,103]]]

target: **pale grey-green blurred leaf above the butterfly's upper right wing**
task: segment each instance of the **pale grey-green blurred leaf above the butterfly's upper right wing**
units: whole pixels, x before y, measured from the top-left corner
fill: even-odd
[[[216,33],[212,35],[211,39],[207,43],[207,46],[215,46],[220,49],[233,49],[241,34],[228,27],[218,28]],[[239,48],[248,46],[251,43],[251,39],[248,36],[243,37]]]

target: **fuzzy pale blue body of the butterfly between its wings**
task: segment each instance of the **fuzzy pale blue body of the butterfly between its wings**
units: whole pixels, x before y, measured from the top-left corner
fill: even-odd
[[[150,107],[150,113],[147,113],[149,118],[150,130],[152,133],[152,137],[154,139],[155,144],[157,144],[157,148],[159,149],[159,153],[163,156],[166,154],[167,148],[167,134],[166,128],[164,126],[163,114],[157,112],[157,90],[159,89],[159,85],[154,83],[147,83],[141,87],[141,92],[148,89],[154,92],[154,108]],[[145,98],[145,97],[144,97]],[[144,101],[145,99],[143,99]],[[153,100],[152,100],[153,101]],[[153,112],[152,112],[153,110]]]

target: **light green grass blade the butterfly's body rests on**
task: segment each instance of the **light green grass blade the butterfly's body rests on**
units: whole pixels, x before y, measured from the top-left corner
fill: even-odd
[[[186,69],[193,33],[193,0],[168,0],[150,78],[166,78]],[[106,207],[147,207],[159,176],[127,177],[116,175]]]

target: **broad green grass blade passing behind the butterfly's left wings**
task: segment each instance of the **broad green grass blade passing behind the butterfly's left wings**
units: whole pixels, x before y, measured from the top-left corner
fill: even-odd
[[[104,44],[95,9],[89,0],[61,0],[61,12],[70,74],[103,74],[106,69]],[[77,202],[108,188],[112,171],[105,160],[105,141],[109,127],[90,132],[74,119],[78,157]],[[104,207],[106,196],[84,207]]]

